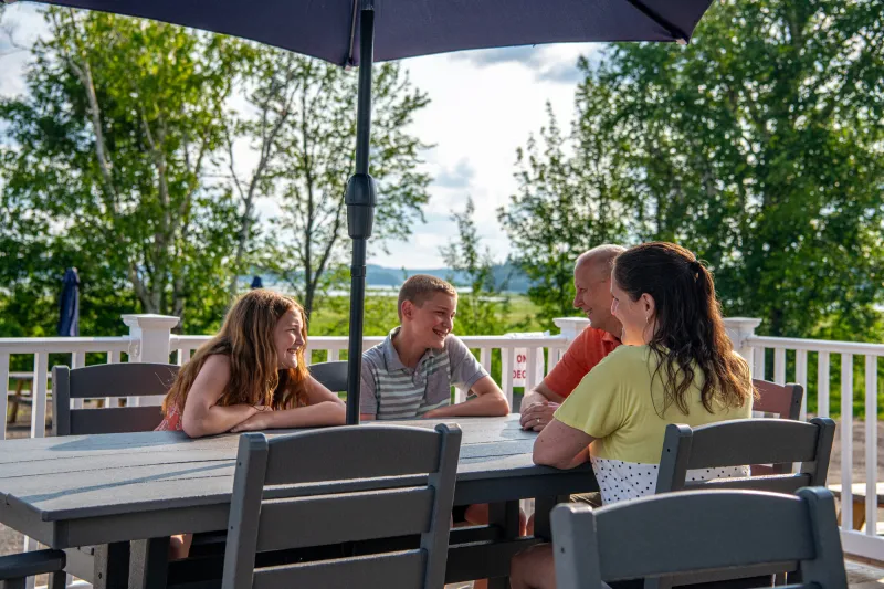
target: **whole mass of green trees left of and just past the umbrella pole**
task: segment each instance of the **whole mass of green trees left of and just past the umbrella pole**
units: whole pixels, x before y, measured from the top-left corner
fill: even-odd
[[[120,312],[209,332],[253,269],[287,278],[308,308],[339,282],[354,73],[154,21],[45,19],[28,92],[0,99],[0,335],[51,335],[69,266],[90,335],[118,333]],[[422,220],[427,146],[404,129],[427,104],[398,65],[377,69],[376,244]],[[256,203],[270,198],[282,214],[262,233]]]

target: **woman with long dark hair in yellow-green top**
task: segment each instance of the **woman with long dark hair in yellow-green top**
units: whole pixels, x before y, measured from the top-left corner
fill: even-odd
[[[693,253],[663,242],[627,250],[614,260],[611,295],[624,345],[583,378],[534,444],[537,464],[590,461],[603,504],[654,493],[666,425],[747,419],[754,398],[712,274]],[[735,466],[688,472],[688,480],[748,475]],[[550,545],[513,559],[513,589],[555,585]]]

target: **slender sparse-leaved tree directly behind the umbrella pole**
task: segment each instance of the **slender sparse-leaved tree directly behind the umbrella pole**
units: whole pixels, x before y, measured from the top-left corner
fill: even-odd
[[[277,88],[270,101],[280,132],[266,175],[281,214],[273,220],[262,265],[283,276],[309,312],[317,293],[340,277],[348,251],[344,191],[355,169],[357,77],[325,62],[270,54],[257,87]],[[266,81],[266,82],[264,82]],[[255,102],[253,98],[253,102]],[[373,246],[404,239],[429,200],[430,176],[420,171],[427,145],[408,132],[429,104],[398,64],[376,69],[372,94],[371,175],[378,182]],[[282,116],[285,114],[286,116]]]

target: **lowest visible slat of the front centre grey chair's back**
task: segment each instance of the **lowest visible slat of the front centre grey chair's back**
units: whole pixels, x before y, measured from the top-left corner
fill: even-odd
[[[256,569],[253,589],[383,587],[414,589],[423,587],[424,550],[407,550],[348,559],[324,560]]]

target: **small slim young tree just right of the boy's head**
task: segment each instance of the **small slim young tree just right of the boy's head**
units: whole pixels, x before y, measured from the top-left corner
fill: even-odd
[[[501,334],[506,330],[509,298],[502,291],[506,284],[494,278],[494,260],[491,251],[482,249],[482,238],[473,219],[473,199],[466,200],[463,212],[453,212],[451,219],[457,223],[459,239],[441,249],[445,265],[451,269],[449,281],[460,276],[467,287],[457,296],[457,333],[462,335]]]

